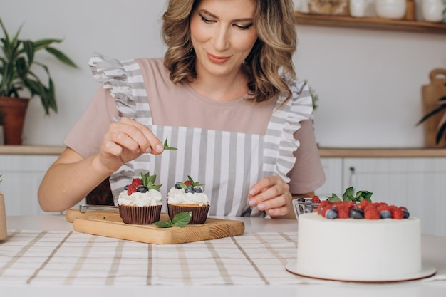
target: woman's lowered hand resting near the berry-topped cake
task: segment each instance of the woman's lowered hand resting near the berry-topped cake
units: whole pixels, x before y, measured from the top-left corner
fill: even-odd
[[[266,211],[271,217],[294,219],[292,199],[289,185],[274,175],[260,179],[249,189],[248,203]]]

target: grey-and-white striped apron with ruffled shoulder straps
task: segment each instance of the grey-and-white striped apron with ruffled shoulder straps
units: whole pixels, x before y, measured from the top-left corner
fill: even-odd
[[[293,152],[299,147],[294,132],[301,127],[301,120],[311,117],[313,110],[306,84],[291,83],[291,100],[281,105],[284,98],[279,96],[266,134],[253,135],[153,125],[142,72],[135,60],[118,61],[95,53],[90,67],[95,79],[110,89],[123,117],[138,120],[162,142],[167,138],[170,146],[178,148],[165,150],[161,155],[141,155],[114,172],[110,176],[110,187],[115,204],[125,185],[140,177],[141,172],[157,175],[163,197],[175,182],[184,182],[190,175],[195,182],[203,184],[209,197],[209,215],[261,217],[264,212],[249,207],[249,188],[270,175],[279,175],[284,182],[289,182],[286,174],[294,166]]]

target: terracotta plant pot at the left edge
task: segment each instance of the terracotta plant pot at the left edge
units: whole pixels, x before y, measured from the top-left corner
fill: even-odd
[[[5,145],[21,145],[29,99],[0,96],[0,110],[4,115]]]

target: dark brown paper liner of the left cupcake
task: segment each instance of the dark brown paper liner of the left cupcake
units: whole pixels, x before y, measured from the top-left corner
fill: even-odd
[[[148,225],[160,220],[161,205],[152,207],[119,206],[119,215],[125,224]]]

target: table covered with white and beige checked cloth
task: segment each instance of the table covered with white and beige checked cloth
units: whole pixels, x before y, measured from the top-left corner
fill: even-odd
[[[1,296],[445,296],[446,278],[438,281],[365,284],[317,281],[295,276],[286,271],[284,266],[286,262],[296,259],[296,221],[237,219],[245,224],[245,233],[242,236],[156,246],[78,233],[73,231],[72,224],[66,222],[63,215],[7,217],[9,239],[0,242]],[[29,239],[26,239],[27,236]],[[47,247],[41,242],[41,238],[47,238],[46,244],[49,242],[53,246]],[[98,253],[95,253],[95,244],[103,244],[97,250]],[[237,249],[232,252],[234,246]],[[129,254],[130,251],[133,254]],[[147,256],[148,251],[152,254]],[[445,251],[446,237],[422,235],[422,261],[435,266],[439,271],[437,276],[446,276]],[[36,253],[36,259],[39,253],[48,253],[50,256],[36,268],[33,266],[32,253]],[[112,256],[108,257],[110,253]],[[241,259],[237,259],[237,253],[242,255]],[[6,254],[14,254],[14,257]],[[118,254],[119,257],[113,256]],[[206,259],[209,254],[213,256]],[[21,258],[25,255],[28,256],[29,267],[34,267],[30,268],[28,283],[20,280],[4,281],[6,275],[11,277],[14,266],[19,271],[20,261],[23,260]],[[191,273],[188,269],[198,264],[195,260],[191,261],[193,256],[190,255],[198,256],[197,262],[206,263],[209,260],[210,266],[204,266],[208,271],[195,270]],[[97,264],[94,259],[97,259]],[[150,271],[144,262],[147,259],[151,261],[152,268],[162,261],[167,264]],[[169,259],[172,261],[167,261]],[[245,261],[246,265],[240,261]],[[143,284],[137,279],[139,264],[148,275]],[[102,271],[93,273],[95,265],[107,266],[108,275],[113,274],[113,279],[101,276]],[[177,271],[169,271],[169,265]],[[219,267],[218,271],[214,271],[212,265]],[[51,276],[51,266],[58,269],[61,279]],[[231,267],[236,267],[236,270],[232,271]],[[123,269],[127,269],[125,273],[120,272]],[[172,278],[162,278],[163,269],[166,269],[165,275],[171,275]],[[177,273],[179,270],[182,271]],[[14,272],[12,270],[13,274]],[[89,272],[91,277],[85,277],[83,273]],[[195,277],[200,272],[202,279]],[[216,272],[215,284],[204,281],[208,274]],[[71,277],[66,278],[70,273]],[[252,273],[255,276],[250,278]],[[224,277],[222,274],[225,274]],[[169,281],[172,283],[167,284]]]

